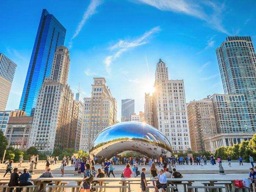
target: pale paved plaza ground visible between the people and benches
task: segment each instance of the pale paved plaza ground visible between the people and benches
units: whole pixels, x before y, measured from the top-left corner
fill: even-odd
[[[227,163],[223,163],[223,167],[224,170],[238,170],[238,172],[243,172],[243,173],[227,173],[226,175],[219,175],[219,174],[210,174],[213,170],[218,170],[218,165],[206,165],[206,166],[197,166],[197,165],[178,165],[176,166],[177,171],[181,171],[184,175],[184,178],[246,178],[248,177],[248,173],[249,173],[249,168],[251,167],[250,163],[244,163],[243,166],[240,166],[238,163],[232,163],[231,165],[232,167],[228,167]],[[0,177],[3,177],[4,174],[4,170],[5,170],[6,165],[5,164],[0,164]],[[14,163],[13,167],[18,167],[18,163]],[[101,165],[97,164],[95,165],[95,169],[98,169],[98,167],[101,167]],[[115,165],[114,166],[114,173],[116,172],[116,176],[120,177],[120,173],[123,171],[124,169],[124,165]],[[142,167],[146,167],[147,170],[149,170],[149,166],[148,165],[141,165],[139,166],[139,170],[141,170]],[[22,170],[24,168],[29,169],[29,163],[24,162],[22,163],[22,166],[19,167],[19,170],[22,172]],[[60,163],[57,163],[55,165],[50,165],[50,168],[52,169],[53,172],[53,176],[54,177],[60,177],[61,173],[60,173]],[[160,169],[160,167],[157,166],[157,168]],[[37,178],[41,175],[42,172],[44,172],[45,169],[45,163],[38,163],[38,169],[34,170],[35,173],[33,174],[33,178]],[[204,171],[207,171],[207,173],[203,173]],[[248,170],[248,173],[246,172],[246,170]],[[81,177],[81,176],[74,176],[74,167],[71,166],[66,166],[65,167],[65,174],[64,177]],[[194,174],[185,174],[184,172],[191,172],[194,171]],[[202,171],[202,173],[200,173],[200,171]],[[198,173],[199,172],[199,173]],[[7,174],[6,177],[10,177],[10,174]],[[113,176],[110,176],[113,177]],[[149,177],[149,175],[147,174],[146,177]],[[112,185],[120,185],[118,184],[118,182],[113,182],[111,183]],[[76,185],[76,182],[69,182],[68,185]],[[201,182],[194,182],[193,185],[202,185]],[[114,192],[117,189],[106,189],[106,192]],[[131,190],[132,192],[139,192],[140,191],[140,186],[137,185],[131,185]],[[179,191],[183,191],[183,187],[182,185],[178,185],[178,190]],[[70,190],[67,189],[67,191],[69,192]],[[151,189],[150,192],[153,192],[154,190]],[[203,192],[203,190],[199,190],[200,192]]]

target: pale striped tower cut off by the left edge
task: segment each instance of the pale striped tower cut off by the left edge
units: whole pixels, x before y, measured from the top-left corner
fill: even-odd
[[[0,110],[5,110],[16,66],[12,60],[0,53]]]

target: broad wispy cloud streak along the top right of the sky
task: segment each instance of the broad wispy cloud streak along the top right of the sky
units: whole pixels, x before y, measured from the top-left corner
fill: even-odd
[[[202,0],[137,0],[141,3],[151,5],[162,11],[172,11],[183,13],[199,18],[207,23],[212,29],[225,34],[229,32],[222,26],[223,11],[225,4],[219,4],[216,1]],[[210,10],[209,10],[210,8]]]

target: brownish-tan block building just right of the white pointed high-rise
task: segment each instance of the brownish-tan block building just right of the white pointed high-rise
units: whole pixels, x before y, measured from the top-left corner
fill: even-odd
[[[192,151],[204,151],[204,139],[217,134],[213,103],[210,98],[188,103],[188,125]]]

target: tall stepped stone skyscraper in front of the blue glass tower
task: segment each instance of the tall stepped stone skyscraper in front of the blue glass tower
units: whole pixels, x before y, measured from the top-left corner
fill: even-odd
[[[50,77],[39,91],[28,147],[46,154],[52,154],[54,147],[68,147],[74,98],[67,84],[69,63],[68,49],[58,47]]]

